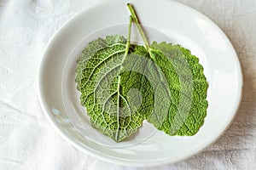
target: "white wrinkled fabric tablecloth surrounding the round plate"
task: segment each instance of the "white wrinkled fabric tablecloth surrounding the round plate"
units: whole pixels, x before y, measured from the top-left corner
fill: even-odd
[[[74,149],[49,125],[38,103],[38,68],[50,37],[103,1],[0,0],[1,170],[143,169],[119,167]],[[186,161],[147,169],[256,169],[256,1],[177,1],[206,14],[230,37],[244,74],[244,98],[217,143]]]

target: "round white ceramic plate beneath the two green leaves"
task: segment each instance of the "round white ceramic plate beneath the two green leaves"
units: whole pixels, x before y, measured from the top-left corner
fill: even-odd
[[[84,11],[55,34],[45,49],[39,71],[40,102],[61,135],[91,156],[141,167],[181,161],[212,144],[230,126],[241,102],[239,60],[223,31],[194,9],[168,0],[131,3],[150,40],[179,43],[198,56],[204,66],[209,107],[199,133],[192,137],[171,137],[145,122],[131,140],[115,144],[90,127],[75,89],[76,59],[81,49],[97,37],[126,35],[129,11],[125,1],[120,0]]]

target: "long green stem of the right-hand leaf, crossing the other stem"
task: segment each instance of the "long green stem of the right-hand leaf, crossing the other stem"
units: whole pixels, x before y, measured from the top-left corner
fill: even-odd
[[[132,20],[135,22],[138,31],[140,32],[141,36],[143,37],[143,42],[145,43],[146,49],[147,49],[147,51],[149,52],[149,43],[148,43],[148,39],[147,39],[147,37],[145,36],[144,31],[143,31],[143,28],[142,28],[142,26],[141,26],[140,23],[139,23],[139,20],[138,20],[138,18],[137,18],[137,14],[135,13],[135,10],[134,10],[134,8],[132,7],[131,3],[127,3],[127,7],[128,7],[129,10],[130,10]]]

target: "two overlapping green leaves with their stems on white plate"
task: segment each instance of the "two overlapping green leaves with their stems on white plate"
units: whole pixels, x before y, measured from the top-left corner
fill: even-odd
[[[143,120],[169,135],[194,135],[207,114],[207,80],[199,59],[166,42],[145,47],[122,36],[98,38],[84,48],[76,68],[81,104],[90,123],[115,141],[131,136]]]

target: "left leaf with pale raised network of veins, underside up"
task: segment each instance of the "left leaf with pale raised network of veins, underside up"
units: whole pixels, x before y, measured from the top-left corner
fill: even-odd
[[[125,37],[121,36],[98,38],[84,48],[76,68],[75,82],[91,126],[115,141],[135,133],[144,119],[138,111],[151,109],[147,100],[138,99],[145,96],[137,95],[136,91],[130,90],[132,87],[120,86],[119,73],[125,59],[125,44]],[[129,71],[123,72],[125,74],[128,75]],[[134,97],[137,100],[129,100]]]

